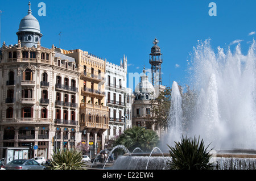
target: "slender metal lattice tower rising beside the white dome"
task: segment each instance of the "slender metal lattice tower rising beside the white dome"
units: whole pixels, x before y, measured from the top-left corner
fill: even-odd
[[[155,87],[156,85],[162,85],[162,70],[161,64],[163,63],[162,53],[160,47],[158,47],[158,39],[154,39],[154,46],[151,48],[150,64],[151,64],[151,83]]]

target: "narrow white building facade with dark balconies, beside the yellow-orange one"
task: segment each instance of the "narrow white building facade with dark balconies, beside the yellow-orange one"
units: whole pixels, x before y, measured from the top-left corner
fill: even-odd
[[[127,57],[123,56],[120,65],[106,62],[106,106],[109,107],[109,129],[106,143],[131,128],[131,104],[133,92],[127,88]]]

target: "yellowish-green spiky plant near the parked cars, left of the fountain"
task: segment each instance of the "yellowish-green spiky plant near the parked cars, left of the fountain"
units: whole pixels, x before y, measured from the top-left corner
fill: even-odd
[[[85,166],[82,162],[82,152],[77,149],[62,149],[53,151],[52,169],[53,170],[81,170]]]

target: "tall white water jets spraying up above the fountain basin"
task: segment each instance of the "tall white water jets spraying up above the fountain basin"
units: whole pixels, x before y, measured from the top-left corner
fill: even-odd
[[[182,110],[173,112],[174,105],[180,104],[180,100],[172,90],[172,129],[179,130],[177,125],[186,120],[184,124],[190,125],[189,130],[181,128],[181,132],[189,136],[200,135],[215,149],[256,149],[255,61],[255,41],[247,55],[241,53],[240,44],[234,53],[230,48],[225,52],[220,47],[214,53],[209,40],[199,42],[188,67],[191,73],[189,87],[197,92],[195,105],[189,105],[190,115],[180,116],[177,123],[177,115]]]

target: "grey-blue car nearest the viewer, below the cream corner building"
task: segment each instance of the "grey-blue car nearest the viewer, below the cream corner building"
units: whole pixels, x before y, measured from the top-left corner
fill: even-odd
[[[34,159],[14,159],[5,166],[6,170],[46,170],[46,167],[39,165]]]

